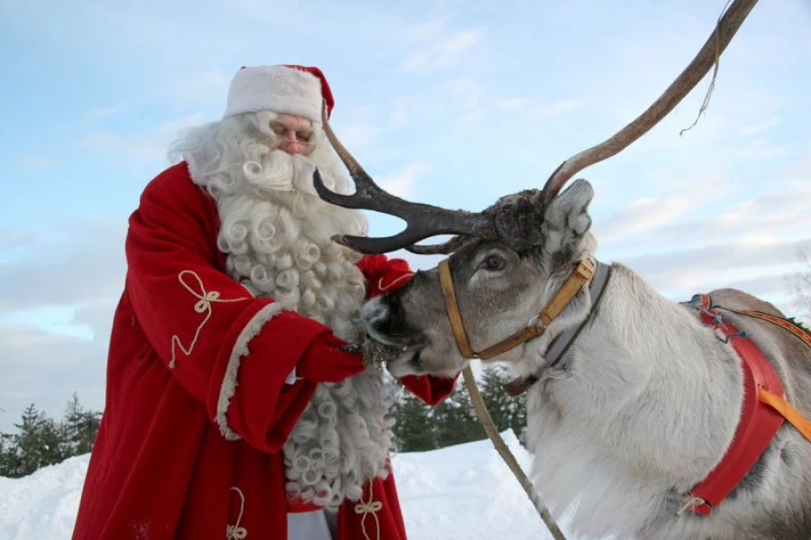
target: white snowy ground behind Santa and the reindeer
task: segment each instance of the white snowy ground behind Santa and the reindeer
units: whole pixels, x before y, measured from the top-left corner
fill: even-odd
[[[529,456],[512,432],[507,444],[524,468]],[[0,478],[0,538],[68,540],[89,456]],[[551,538],[518,481],[489,441],[394,458],[409,540]]]

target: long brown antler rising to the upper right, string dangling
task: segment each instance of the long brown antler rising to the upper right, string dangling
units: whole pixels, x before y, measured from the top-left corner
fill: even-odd
[[[732,41],[735,33],[741,28],[743,20],[757,3],[757,0],[735,0],[719,18],[713,34],[706,40],[704,47],[698,51],[696,58],[688,64],[688,67],[679,74],[676,80],[670,83],[670,87],[659,96],[659,99],[610,139],[560,163],[558,169],[555,169],[543,186],[543,203],[547,204],[556,197],[566,182],[579,171],[623,151],[632,142],[648,133],[654,125],[659,124],[661,119],[667,116],[673,107],[679,105],[679,102],[696,87],[713,64],[717,69],[721,53]]]

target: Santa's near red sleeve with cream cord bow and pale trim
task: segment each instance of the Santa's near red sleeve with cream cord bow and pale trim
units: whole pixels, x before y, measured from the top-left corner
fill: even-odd
[[[315,387],[286,380],[307,347],[331,330],[253,297],[219,270],[210,199],[190,180],[159,180],[144,190],[125,245],[135,317],[225,438],[277,452]]]

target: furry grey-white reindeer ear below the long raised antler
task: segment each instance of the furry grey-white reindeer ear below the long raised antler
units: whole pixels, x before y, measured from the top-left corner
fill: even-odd
[[[552,199],[546,208],[542,251],[551,256],[554,267],[566,266],[580,257],[583,238],[591,228],[588,205],[592,197],[594,189],[591,184],[580,178]]]

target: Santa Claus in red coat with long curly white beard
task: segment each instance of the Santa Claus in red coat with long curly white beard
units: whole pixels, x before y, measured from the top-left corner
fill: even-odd
[[[411,272],[331,240],[366,221],[314,191],[316,166],[353,189],[323,106],[319,69],[240,69],[223,119],[145,188],[75,539],[405,538],[383,374],[342,345]],[[430,404],[453,389],[402,382]]]

